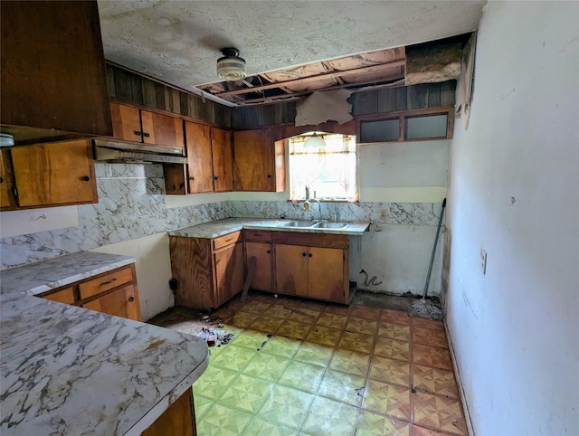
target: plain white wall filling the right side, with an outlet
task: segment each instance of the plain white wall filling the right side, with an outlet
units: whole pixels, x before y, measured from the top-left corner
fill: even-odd
[[[579,3],[489,2],[448,204],[446,322],[477,436],[579,429],[578,123]]]

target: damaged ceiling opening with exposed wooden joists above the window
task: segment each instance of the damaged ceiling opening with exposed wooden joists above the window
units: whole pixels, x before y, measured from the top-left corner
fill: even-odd
[[[470,35],[312,62],[196,88],[229,105],[249,106],[303,100],[327,90],[351,93],[455,80],[460,76],[462,52]]]

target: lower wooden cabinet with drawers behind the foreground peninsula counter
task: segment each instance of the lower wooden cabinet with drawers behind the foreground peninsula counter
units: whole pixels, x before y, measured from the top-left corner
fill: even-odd
[[[117,317],[141,320],[134,264],[44,292],[39,297]]]

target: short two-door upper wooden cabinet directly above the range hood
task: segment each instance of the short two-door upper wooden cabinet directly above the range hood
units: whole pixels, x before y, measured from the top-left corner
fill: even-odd
[[[185,150],[183,120],[119,103],[110,103],[113,137]],[[184,153],[185,154],[185,153]]]

